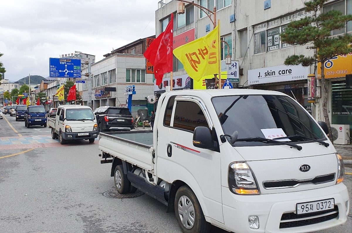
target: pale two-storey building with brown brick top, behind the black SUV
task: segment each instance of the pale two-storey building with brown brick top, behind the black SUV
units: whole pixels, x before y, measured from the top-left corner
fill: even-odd
[[[155,38],[155,36],[149,37]],[[126,106],[126,86],[134,85],[136,94],[132,98],[132,114],[135,116],[138,109],[151,108],[146,97],[153,94],[153,74],[146,73],[146,59],[143,53],[146,50],[146,39],[139,39],[121,48],[107,53],[104,59],[95,62],[91,67],[92,73],[92,106]],[[82,74],[88,73],[87,68]],[[88,85],[83,87],[83,105],[88,105]],[[115,87],[116,92],[105,92],[105,87]],[[95,94],[101,94],[96,96]]]

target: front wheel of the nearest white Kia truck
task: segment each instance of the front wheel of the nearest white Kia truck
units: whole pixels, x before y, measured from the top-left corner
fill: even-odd
[[[187,209],[186,213],[182,211],[183,208]],[[186,216],[184,216],[185,214]],[[182,232],[184,233],[209,233],[210,231],[210,223],[205,220],[202,208],[196,195],[187,185],[181,186],[176,192],[175,215],[178,226],[180,226]],[[183,217],[181,217],[181,215]],[[184,221],[183,223],[182,219],[184,217],[186,217],[185,220],[187,221]]]

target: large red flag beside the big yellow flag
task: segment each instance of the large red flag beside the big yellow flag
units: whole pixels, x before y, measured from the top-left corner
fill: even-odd
[[[172,71],[172,44],[174,41],[174,14],[171,14],[171,20],[162,32],[144,52],[147,58],[154,66],[154,75],[156,84],[163,81],[165,73]]]

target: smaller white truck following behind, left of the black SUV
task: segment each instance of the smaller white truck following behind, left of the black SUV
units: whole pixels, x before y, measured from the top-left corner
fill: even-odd
[[[68,140],[85,139],[93,143],[98,137],[98,125],[92,109],[81,105],[61,105],[55,120],[48,118],[51,138],[59,138],[61,144]]]

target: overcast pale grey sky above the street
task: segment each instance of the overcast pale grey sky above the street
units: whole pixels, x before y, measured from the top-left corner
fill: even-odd
[[[155,35],[158,1],[2,0],[0,61],[5,78],[47,77],[50,57],[81,51],[100,61],[113,48]]]

